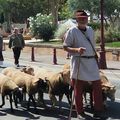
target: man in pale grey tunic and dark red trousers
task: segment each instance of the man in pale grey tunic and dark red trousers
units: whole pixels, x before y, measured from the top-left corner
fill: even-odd
[[[80,120],[86,119],[82,97],[85,84],[89,82],[93,89],[93,116],[101,119],[104,107],[99,68],[95,59],[94,31],[87,25],[88,15],[84,10],[75,11],[75,18],[78,25],[67,31],[63,48],[71,55],[71,84],[74,88],[77,117]]]

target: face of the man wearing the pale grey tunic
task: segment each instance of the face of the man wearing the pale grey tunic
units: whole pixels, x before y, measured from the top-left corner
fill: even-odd
[[[88,23],[88,17],[81,17],[80,16],[80,12],[77,12],[75,14],[75,18],[76,18],[76,21],[78,22],[78,24],[82,24],[82,25],[87,25]]]

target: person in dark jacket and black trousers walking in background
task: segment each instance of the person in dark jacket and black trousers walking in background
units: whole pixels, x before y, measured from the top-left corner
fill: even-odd
[[[13,50],[14,64],[16,67],[19,67],[19,57],[24,46],[25,42],[22,34],[19,32],[18,28],[14,28],[12,35],[9,37],[9,48]]]

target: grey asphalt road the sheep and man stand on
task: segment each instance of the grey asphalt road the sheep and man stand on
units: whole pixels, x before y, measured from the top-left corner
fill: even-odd
[[[37,65],[40,67],[52,69],[55,71],[60,71],[62,69],[62,65],[52,65],[47,63],[36,63],[21,60],[21,64],[24,65]],[[115,102],[111,102],[109,99],[107,100],[107,110],[105,112],[106,118],[105,120],[120,120],[120,64],[119,62],[108,61],[109,67],[106,70],[103,70],[113,85],[116,86],[116,100]],[[13,62],[10,59],[6,59],[4,65],[1,66],[0,71],[4,69],[4,67],[13,66]],[[38,112],[35,113],[34,108],[31,107],[30,111],[26,110],[26,102],[22,103],[22,106],[19,105],[18,108],[15,108],[14,105],[14,113],[10,111],[9,100],[6,99],[5,106],[0,108],[0,120],[68,120],[70,107],[68,105],[67,99],[64,96],[62,102],[62,109],[59,110],[58,106],[55,109],[51,109],[51,102],[47,94],[44,95],[45,103],[47,104],[47,108],[45,109],[42,105],[38,106]],[[1,104],[1,98],[0,98]],[[31,105],[32,106],[32,105]],[[93,120],[89,105],[86,107],[86,114],[88,114],[88,120]],[[77,120],[76,111],[73,109],[71,120]]]

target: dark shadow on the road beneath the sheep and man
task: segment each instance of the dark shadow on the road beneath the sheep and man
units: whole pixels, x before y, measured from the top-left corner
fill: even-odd
[[[26,110],[26,105],[22,107],[18,107],[14,109],[14,113],[11,113],[10,108],[4,108],[0,109],[0,116],[5,116],[7,114],[11,114],[18,117],[26,118],[25,120],[37,120],[41,117],[50,117],[50,118],[56,118],[56,120],[68,120],[69,113],[70,113],[70,107],[68,106],[68,103],[62,102],[62,109],[59,109],[59,106],[57,105],[55,108],[51,108],[51,103],[49,100],[45,101],[47,103],[47,108],[44,107],[37,107],[37,113],[35,113],[34,107],[31,106],[30,110]],[[107,101],[107,110],[105,112],[105,118],[102,120],[120,120],[120,103],[119,102],[111,102]],[[87,119],[86,120],[94,120],[92,118],[93,111],[90,109],[89,106],[85,107],[85,111],[87,113]],[[76,118],[76,110],[72,109],[71,118]]]

